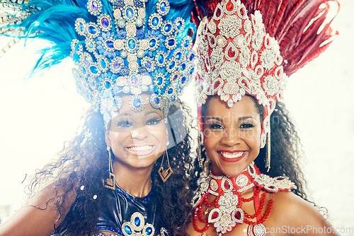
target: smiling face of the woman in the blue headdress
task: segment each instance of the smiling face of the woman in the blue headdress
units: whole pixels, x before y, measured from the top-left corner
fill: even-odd
[[[127,167],[152,167],[166,148],[167,131],[161,110],[154,109],[149,96],[142,95],[145,108],[133,112],[129,107],[132,96],[122,98],[120,111],[112,113],[105,141],[112,148],[115,161]]]

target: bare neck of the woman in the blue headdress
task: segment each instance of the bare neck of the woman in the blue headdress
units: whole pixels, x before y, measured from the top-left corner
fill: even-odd
[[[113,163],[113,173],[117,184],[133,196],[147,196],[152,189],[152,167],[127,167],[119,162]]]

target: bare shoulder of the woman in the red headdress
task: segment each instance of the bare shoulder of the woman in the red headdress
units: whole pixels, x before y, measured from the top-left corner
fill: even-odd
[[[273,195],[269,220],[277,222],[275,227],[294,229],[295,232],[287,232],[288,235],[336,235],[318,208],[290,191]]]

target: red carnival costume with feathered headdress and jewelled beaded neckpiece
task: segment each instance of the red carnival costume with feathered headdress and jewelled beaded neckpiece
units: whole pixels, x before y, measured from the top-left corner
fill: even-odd
[[[218,95],[232,107],[244,95],[263,105],[261,148],[266,146],[265,167],[270,168],[270,115],[282,98],[288,76],[323,52],[336,32],[328,22],[329,0],[260,1],[200,0],[195,18],[200,22],[195,45],[198,50],[198,119],[203,143],[201,106],[208,96]],[[338,6],[337,1],[332,1]],[[268,218],[273,199],[265,209],[265,193],[289,191],[294,184],[286,177],[269,177],[258,172],[253,163],[238,177],[215,176],[212,173],[195,193],[193,226],[205,232],[210,225],[217,235],[232,231],[241,223],[249,225],[247,235],[265,235],[263,222]],[[253,196],[241,194],[253,188]],[[217,197],[209,203],[208,195]],[[253,201],[256,213],[250,216],[242,203]],[[207,211],[202,211],[207,208]],[[212,209],[211,211],[209,211]],[[256,221],[250,219],[256,219]],[[197,221],[205,223],[198,228]]]

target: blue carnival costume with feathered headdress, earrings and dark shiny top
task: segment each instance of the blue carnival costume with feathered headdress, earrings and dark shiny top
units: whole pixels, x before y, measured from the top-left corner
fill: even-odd
[[[148,94],[152,107],[163,110],[166,117],[193,73],[193,38],[188,36],[188,29],[194,27],[189,23],[193,2],[8,0],[0,4],[1,34],[52,42],[42,50],[35,71],[72,57],[79,93],[101,111],[107,129],[110,112],[120,110],[124,95],[132,95],[130,108],[140,112],[145,107],[142,93]],[[94,210],[98,211],[96,235],[100,231],[167,235],[154,191],[138,198],[120,189],[112,173],[110,149],[108,153],[109,176],[103,179],[108,200]],[[161,179],[166,181],[170,169],[161,164]],[[70,211],[75,211],[76,201]],[[67,220],[75,220],[70,211],[57,229],[59,235],[65,235]]]

